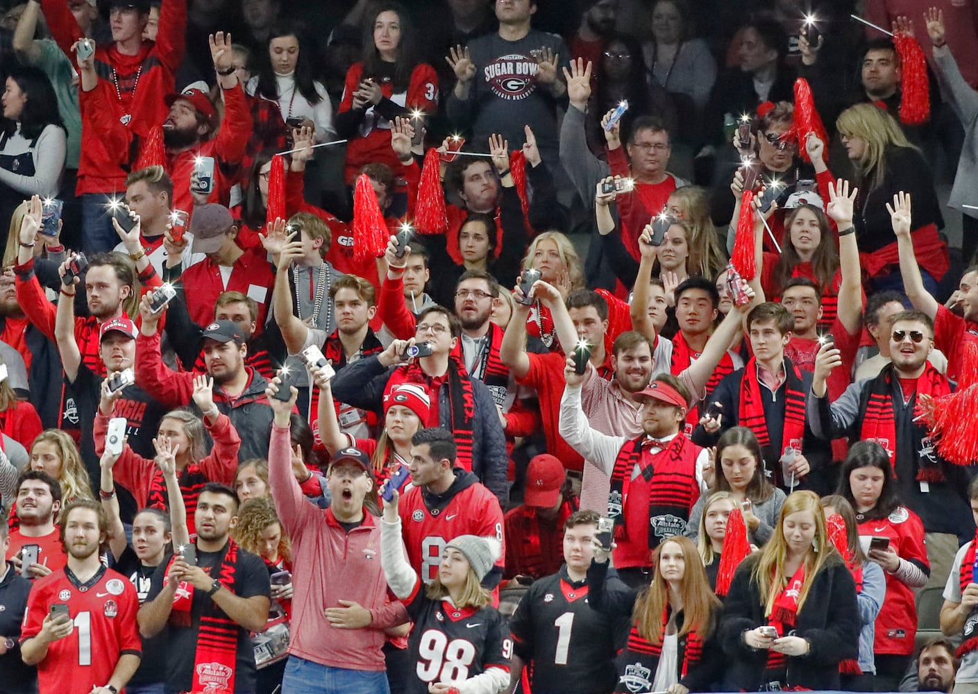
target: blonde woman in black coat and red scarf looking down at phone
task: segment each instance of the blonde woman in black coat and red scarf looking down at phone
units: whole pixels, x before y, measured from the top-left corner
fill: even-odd
[[[838,689],[839,664],[856,658],[856,584],[828,542],[814,492],[785,499],[778,527],[737,568],[720,628],[724,691]]]

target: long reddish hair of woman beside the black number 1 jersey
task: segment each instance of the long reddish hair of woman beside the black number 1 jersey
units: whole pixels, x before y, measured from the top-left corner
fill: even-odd
[[[713,616],[720,609],[720,600],[713,594],[710,582],[706,579],[706,570],[696,552],[696,545],[682,535],[666,538],[652,553],[652,566],[656,571],[652,575],[652,582],[636,598],[632,619],[646,641],[652,644],[661,643],[662,615],[669,604],[669,583],[662,579],[658,565],[662,548],[669,542],[680,546],[686,563],[683,584],[680,587],[684,619],[679,635],[695,631],[701,639],[705,639],[713,629]]]

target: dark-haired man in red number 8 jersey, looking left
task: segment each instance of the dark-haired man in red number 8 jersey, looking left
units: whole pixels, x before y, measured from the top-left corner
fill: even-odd
[[[411,439],[411,483],[398,510],[404,524],[408,561],[422,581],[437,576],[445,545],[460,535],[503,538],[503,509],[492,492],[471,472],[459,467],[452,433],[441,428],[422,429]],[[503,554],[482,580],[493,588],[503,578]]]

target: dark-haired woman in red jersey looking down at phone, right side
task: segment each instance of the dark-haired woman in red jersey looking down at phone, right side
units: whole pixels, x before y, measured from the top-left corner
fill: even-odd
[[[924,586],[930,576],[923,522],[897,498],[890,456],[875,441],[860,441],[849,449],[837,494],[856,510],[869,560],[886,572],[886,598],[876,618],[873,643],[875,685],[878,691],[895,691],[913,656],[910,634],[917,627],[913,589]]]

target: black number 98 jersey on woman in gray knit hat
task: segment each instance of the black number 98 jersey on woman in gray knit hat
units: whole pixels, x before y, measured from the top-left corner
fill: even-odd
[[[496,608],[432,600],[421,580],[403,602],[415,623],[409,646],[416,676],[407,682],[408,694],[427,694],[430,682],[457,687],[489,668],[510,672],[512,641]]]

